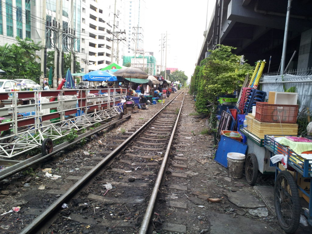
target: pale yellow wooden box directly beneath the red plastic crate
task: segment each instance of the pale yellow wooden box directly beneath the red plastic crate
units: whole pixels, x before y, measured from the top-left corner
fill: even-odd
[[[264,135],[297,135],[298,124],[264,123],[253,119],[251,133],[260,139],[264,139]]]

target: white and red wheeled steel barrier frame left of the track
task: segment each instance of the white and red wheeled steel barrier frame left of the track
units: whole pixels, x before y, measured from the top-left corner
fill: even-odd
[[[120,91],[120,94],[116,91]],[[72,99],[65,100],[65,97],[69,96]],[[0,158],[24,154],[41,147],[46,138],[54,141],[70,134],[71,129],[79,131],[119,116],[122,108],[117,104],[121,103],[121,99],[125,96],[126,89],[2,92],[0,100],[12,104],[0,108],[0,116],[6,120],[6,122],[4,119],[1,120],[0,131],[11,133],[0,137]],[[50,101],[40,102],[41,97],[49,98]],[[20,105],[23,99],[33,103]],[[76,107],[66,108],[66,105]],[[50,113],[51,109],[56,111]],[[49,113],[44,114],[42,112],[44,110]],[[21,113],[28,112],[31,113],[30,116],[21,116]],[[35,112],[34,115],[32,112]],[[56,118],[60,120],[53,120]]]

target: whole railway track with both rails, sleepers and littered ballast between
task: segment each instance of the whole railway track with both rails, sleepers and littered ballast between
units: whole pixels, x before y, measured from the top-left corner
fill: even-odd
[[[183,100],[183,94],[177,95],[142,126],[113,139],[97,152],[101,157],[93,157],[90,165],[80,168],[85,175],[65,178],[71,184],[76,181],[73,186],[47,190],[50,195],[46,197],[52,194],[57,199],[46,199],[49,206],[27,208],[23,214],[33,220],[24,220],[23,226],[27,226],[16,233],[148,233],[158,228],[162,221],[154,214],[154,205],[163,175],[184,177],[167,170]],[[178,163],[171,166],[184,167]],[[68,205],[61,208],[63,203]],[[162,226],[164,230],[177,228],[168,223]]]

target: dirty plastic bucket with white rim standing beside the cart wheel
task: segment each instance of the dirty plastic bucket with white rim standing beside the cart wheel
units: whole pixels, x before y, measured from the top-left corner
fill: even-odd
[[[231,178],[240,179],[243,176],[245,154],[227,153],[227,175]]]

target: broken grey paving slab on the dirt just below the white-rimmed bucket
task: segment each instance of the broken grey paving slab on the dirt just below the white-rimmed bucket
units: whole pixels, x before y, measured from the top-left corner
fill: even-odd
[[[258,207],[266,206],[266,204],[259,201],[253,195],[243,192],[243,191],[228,192],[228,193],[225,193],[225,195],[227,196],[230,202],[234,203],[238,207],[258,208]]]

